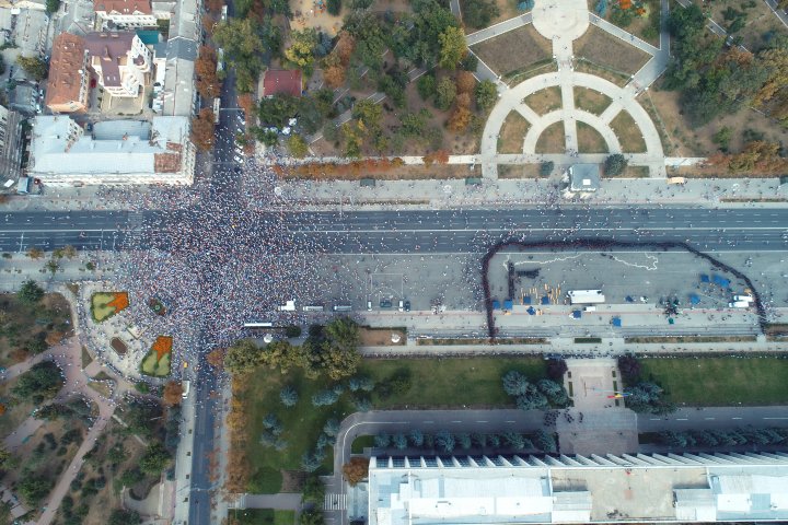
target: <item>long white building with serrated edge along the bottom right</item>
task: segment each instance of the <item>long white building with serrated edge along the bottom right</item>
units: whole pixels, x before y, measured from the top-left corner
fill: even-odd
[[[373,457],[368,490],[369,525],[777,522],[788,453]]]

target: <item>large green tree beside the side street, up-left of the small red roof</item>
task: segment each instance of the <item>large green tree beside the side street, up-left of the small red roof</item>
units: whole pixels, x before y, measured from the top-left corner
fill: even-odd
[[[235,70],[235,85],[241,93],[252,93],[263,71],[266,47],[262,27],[255,18],[232,18],[213,28],[213,43],[224,50],[224,59]]]

